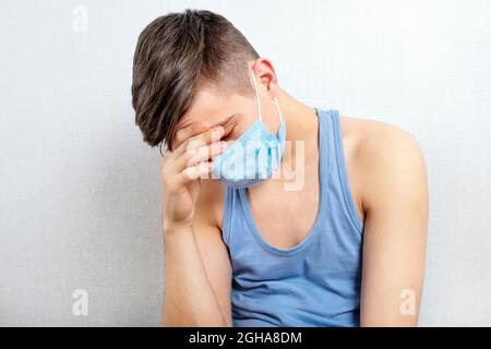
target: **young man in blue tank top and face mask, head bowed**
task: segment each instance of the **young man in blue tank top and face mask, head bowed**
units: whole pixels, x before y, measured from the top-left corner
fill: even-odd
[[[209,11],[143,31],[132,95],[167,145],[165,325],[417,324],[428,189],[408,133],[296,100]]]

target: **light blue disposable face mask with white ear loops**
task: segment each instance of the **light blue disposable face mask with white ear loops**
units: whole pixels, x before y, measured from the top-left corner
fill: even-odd
[[[258,99],[258,121],[223,154],[214,158],[212,178],[219,179],[224,184],[232,188],[252,186],[271,178],[282,163],[285,147],[286,123],[278,101],[275,98],[280,124],[278,132],[273,134],[262,120],[260,97],[252,71],[251,76]]]

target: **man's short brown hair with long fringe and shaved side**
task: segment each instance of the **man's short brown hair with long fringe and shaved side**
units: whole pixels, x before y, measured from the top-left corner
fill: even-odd
[[[133,60],[135,123],[151,146],[170,141],[200,88],[253,94],[247,62],[259,58],[224,16],[187,9],[154,20],[140,34]]]

